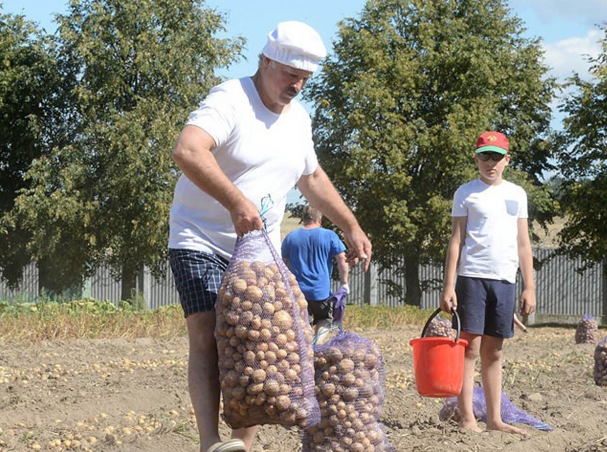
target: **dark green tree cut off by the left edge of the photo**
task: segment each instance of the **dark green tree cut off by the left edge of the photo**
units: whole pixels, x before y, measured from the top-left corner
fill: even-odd
[[[35,158],[69,139],[63,78],[49,36],[21,15],[0,15],[0,273],[16,285],[30,261],[29,231],[9,213]]]

